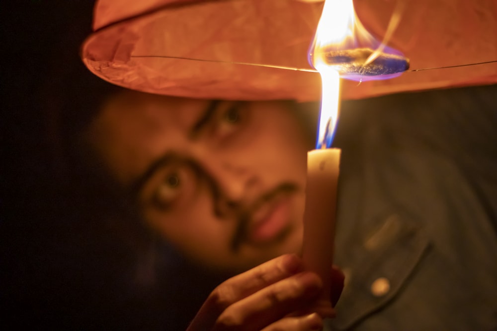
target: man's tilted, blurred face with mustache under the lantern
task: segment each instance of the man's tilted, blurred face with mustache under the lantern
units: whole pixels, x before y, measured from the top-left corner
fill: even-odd
[[[95,145],[150,226],[238,271],[301,248],[310,146],[288,106],[126,92],[103,107]]]

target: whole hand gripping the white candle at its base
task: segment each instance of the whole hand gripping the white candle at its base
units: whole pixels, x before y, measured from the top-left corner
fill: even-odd
[[[343,275],[338,270],[334,273],[332,292],[336,296],[343,287]],[[330,305],[308,311],[318,307],[321,288],[319,276],[303,271],[299,257],[283,255],[216,287],[188,331],[320,330],[323,318],[334,316]]]

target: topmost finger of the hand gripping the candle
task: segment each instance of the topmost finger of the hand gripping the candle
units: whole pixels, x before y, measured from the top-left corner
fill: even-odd
[[[294,254],[287,254],[226,280],[211,292],[188,330],[210,329],[230,305],[302,269],[302,260]]]

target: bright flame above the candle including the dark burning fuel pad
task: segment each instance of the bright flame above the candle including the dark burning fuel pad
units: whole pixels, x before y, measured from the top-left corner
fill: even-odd
[[[326,0],[309,51],[322,79],[317,148],[331,146],[339,113],[340,77],[366,81],[400,75],[409,68],[402,53],[378,42],[362,25],[352,0]]]

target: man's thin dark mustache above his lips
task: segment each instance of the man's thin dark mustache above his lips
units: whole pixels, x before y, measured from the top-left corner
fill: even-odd
[[[296,184],[283,183],[273,190],[264,193],[262,196],[260,196],[260,198],[256,199],[249,206],[243,206],[239,204],[234,205],[232,215],[237,225],[230,243],[230,251],[234,253],[238,252],[242,243],[247,239],[250,221],[252,220],[253,214],[257,211],[258,208],[260,208],[261,205],[270,202],[275,197],[294,193],[297,190],[298,186]]]

